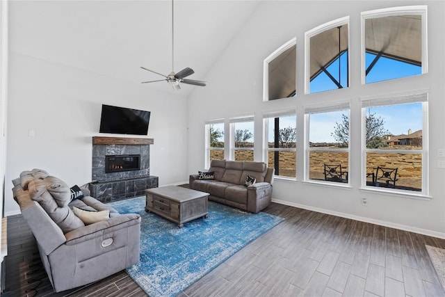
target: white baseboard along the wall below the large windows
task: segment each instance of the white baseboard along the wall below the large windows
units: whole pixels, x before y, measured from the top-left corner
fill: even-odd
[[[432,230],[426,230],[426,229],[422,229],[422,228],[417,228],[417,227],[412,227],[412,226],[407,226],[407,225],[391,223],[391,222],[387,222],[385,220],[375,220],[373,218],[365,218],[363,216],[355,216],[353,214],[345,214],[343,212],[332,211],[332,210],[329,210],[329,209],[322,209],[322,208],[318,208],[318,207],[310,207],[310,206],[307,206],[307,205],[293,203],[293,202],[280,200],[280,199],[272,199],[272,202],[279,203],[279,204],[284,204],[284,205],[289,205],[290,207],[298,207],[300,209],[307,209],[307,210],[310,210],[310,211],[321,212],[322,214],[330,214],[332,216],[339,216],[341,218],[350,218],[351,220],[359,220],[359,221],[364,222],[364,223],[371,223],[371,224],[381,225],[381,226],[390,227],[390,228],[394,228],[394,229],[398,229],[398,230],[403,230],[403,231],[408,231],[408,232],[419,233],[419,234],[422,234],[422,235],[437,237],[439,239],[445,239],[445,233],[443,233],[443,232],[435,232],[435,231],[432,231]]]

